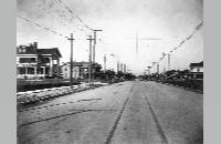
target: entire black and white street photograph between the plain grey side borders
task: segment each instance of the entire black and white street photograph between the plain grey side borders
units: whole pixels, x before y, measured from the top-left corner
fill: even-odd
[[[203,144],[203,0],[17,0],[15,19],[17,144]]]

